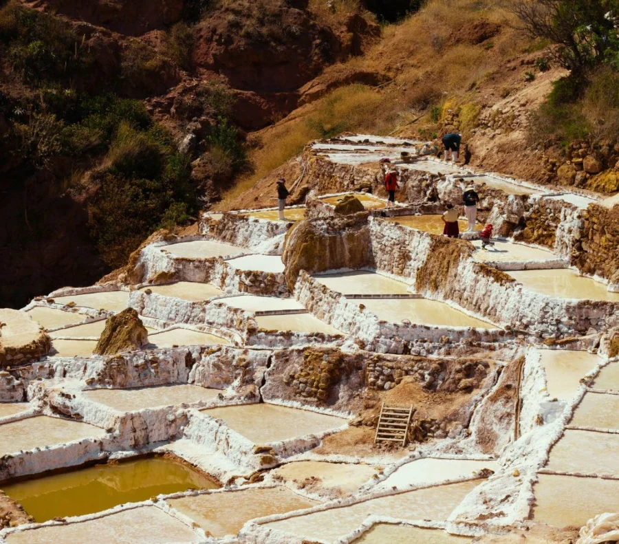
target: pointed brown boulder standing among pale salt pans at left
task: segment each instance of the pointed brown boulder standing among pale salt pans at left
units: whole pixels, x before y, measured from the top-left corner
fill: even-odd
[[[148,339],[149,333],[138,312],[133,308],[127,308],[120,314],[107,318],[105,329],[101,333],[94,353],[115,355],[122,351],[140,349],[148,343]]]

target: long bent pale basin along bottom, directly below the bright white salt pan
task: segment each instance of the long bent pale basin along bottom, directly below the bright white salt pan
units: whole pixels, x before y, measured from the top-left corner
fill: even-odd
[[[338,537],[354,531],[371,514],[398,516],[405,520],[444,521],[479,483],[479,481],[466,481],[389,495],[343,508],[332,508],[323,512],[266,523],[265,527],[292,533],[312,541],[333,542]]]

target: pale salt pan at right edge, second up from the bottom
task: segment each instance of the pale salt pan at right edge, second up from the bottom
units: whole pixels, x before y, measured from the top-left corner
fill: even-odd
[[[619,476],[619,435],[567,430],[552,446],[545,468],[598,476]]]

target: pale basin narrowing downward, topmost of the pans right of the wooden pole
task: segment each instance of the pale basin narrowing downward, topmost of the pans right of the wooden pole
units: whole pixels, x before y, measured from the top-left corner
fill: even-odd
[[[540,364],[546,373],[551,397],[571,399],[580,386],[580,378],[600,364],[601,359],[587,351],[541,349]]]

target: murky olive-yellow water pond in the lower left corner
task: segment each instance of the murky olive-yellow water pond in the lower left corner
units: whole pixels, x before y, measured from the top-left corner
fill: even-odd
[[[180,461],[153,457],[97,465],[4,486],[9,497],[43,523],[55,517],[94,514],[116,505],[146,501],[158,494],[219,485]]]

